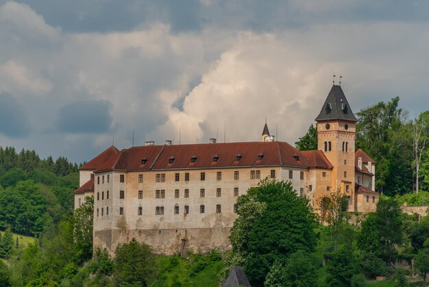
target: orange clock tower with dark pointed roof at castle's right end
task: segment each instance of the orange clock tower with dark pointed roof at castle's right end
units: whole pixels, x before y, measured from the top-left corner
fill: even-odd
[[[332,85],[317,122],[317,149],[322,150],[332,169],[332,190],[347,196],[348,210],[355,210],[354,151],[357,119],[350,108],[343,89]]]

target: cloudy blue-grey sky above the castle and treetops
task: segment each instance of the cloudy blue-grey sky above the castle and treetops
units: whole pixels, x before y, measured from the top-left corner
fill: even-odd
[[[332,87],[354,113],[429,106],[429,2],[0,0],[0,146],[293,144]]]

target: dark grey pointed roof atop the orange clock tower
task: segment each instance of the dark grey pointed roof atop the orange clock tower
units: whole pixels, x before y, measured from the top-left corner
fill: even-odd
[[[358,119],[354,116],[349,102],[345,98],[341,86],[332,85],[325,104],[323,104],[316,121],[328,121],[332,119],[343,119],[350,122],[357,122]]]

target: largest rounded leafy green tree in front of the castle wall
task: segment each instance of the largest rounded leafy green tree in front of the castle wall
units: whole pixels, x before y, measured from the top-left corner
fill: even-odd
[[[297,196],[291,183],[262,180],[240,196],[237,205],[230,240],[233,251],[243,257],[252,286],[262,286],[276,260],[285,264],[295,251],[315,248],[315,214],[308,199]],[[252,207],[258,208],[253,214]],[[246,218],[246,214],[252,216]]]

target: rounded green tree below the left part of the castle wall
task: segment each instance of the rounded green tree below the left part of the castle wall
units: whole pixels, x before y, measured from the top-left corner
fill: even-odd
[[[145,243],[132,238],[119,244],[114,258],[114,280],[121,286],[149,286],[156,275],[154,255]]]

